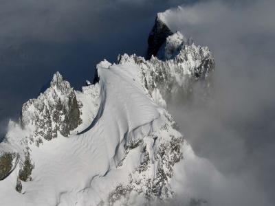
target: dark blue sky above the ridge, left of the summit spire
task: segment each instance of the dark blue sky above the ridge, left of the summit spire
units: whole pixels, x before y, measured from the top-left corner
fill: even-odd
[[[0,133],[54,72],[80,89],[100,60],[143,56],[157,12],[183,2],[0,0]]]

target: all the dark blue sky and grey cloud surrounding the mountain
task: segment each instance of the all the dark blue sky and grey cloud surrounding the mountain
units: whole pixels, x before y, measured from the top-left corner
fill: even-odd
[[[170,111],[197,155],[274,203],[272,0],[0,0],[0,135],[55,71],[80,89],[103,58],[144,55],[156,13],[182,3],[185,12],[170,25],[208,45],[216,70],[210,100],[177,102]]]

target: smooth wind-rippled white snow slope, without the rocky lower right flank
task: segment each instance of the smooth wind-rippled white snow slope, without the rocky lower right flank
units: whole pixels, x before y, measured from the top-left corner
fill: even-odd
[[[146,147],[153,148],[155,140],[146,135],[159,131],[164,124],[170,124],[163,115],[164,109],[146,95],[137,71],[139,68],[136,65],[101,62],[98,65],[100,82],[85,87],[83,93],[76,92],[78,100],[83,103],[83,124],[77,130],[83,128],[86,131],[69,138],[58,134],[57,138],[43,141],[39,147],[30,144],[35,165],[33,180],[23,182],[21,194],[17,192],[14,189],[19,170],[17,167],[0,183],[1,205],[98,205],[102,201],[107,204],[110,192],[118,187],[118,183],[129,182],[129,174],[133,173],[143,158],[142,148],[137,147],[126,155],[120,165],[124,146],[145,137]],[[100,87],[100,106],[95,119],[88,118],[91,116],[89,111],[95,107],[87,95],[89,87]],[[88,124],[93,122],[96,122],[93,126]],[[181,137],[168,126],[159,139],[164,138],[165,142],[171,134]],[[19,152],[19,139],[23,139],[23,136],[28,136],[28,130],[22,130],[11,122],[7,135],[11,150]],[[151,155],[150,152],[154,151],[148,152]],[[156,170],[151,168],[144,175],[153,175],[153,178]],[[139,174],[137,172],[137,176]],[[135,192],[131,192],[131,195],[137,196]]]

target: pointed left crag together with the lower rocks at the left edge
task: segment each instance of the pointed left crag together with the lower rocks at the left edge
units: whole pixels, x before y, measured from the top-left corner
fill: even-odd
[[[32,181],[34,161],[30,146],[33,143],[40,146],[44,139],[56,138],[58,133],[68,137],[82,122],[80,106],[69,82],[63,80],[60,73],[55,73],[48,89],[37,99],[28,100],[23,104],[19,122],[23,130],[28,132],[22,133],[14,145],[10,142],[10,134],[6,135],[2,144],[9,146],[7,152],[0,153],[0,180],[5,179],[19,165],[14,188],[21,192],[21,181]]]

